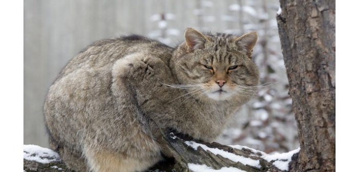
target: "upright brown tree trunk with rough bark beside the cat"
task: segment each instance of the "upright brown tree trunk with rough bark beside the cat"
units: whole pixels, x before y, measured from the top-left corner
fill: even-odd
[[[280,0],[279,36],[301,150],[293,171],[335,171],[335,1]]]

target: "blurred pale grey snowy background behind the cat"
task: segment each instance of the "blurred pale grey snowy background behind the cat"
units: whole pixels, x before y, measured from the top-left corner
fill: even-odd
[[[180,44],[187,27],[243,34],[257,31],[253,58],[263,87],[218,137],[266,153],[299,147],[288,96],[276,15],[278,0],[24,1],[24,144],[49,147],[42,106],[66,62],[95,40],[131,33]]]

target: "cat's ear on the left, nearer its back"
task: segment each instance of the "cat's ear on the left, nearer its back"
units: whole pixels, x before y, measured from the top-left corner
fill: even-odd
[[[204,34],[198,32],[195,29],[187,28],[185,32],[185,42],[187,50],[189,51],[205,48],[205,43],[207,40],[208,39]]]

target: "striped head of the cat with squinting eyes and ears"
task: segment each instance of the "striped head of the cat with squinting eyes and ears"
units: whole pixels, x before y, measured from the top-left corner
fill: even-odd
[[[185,42],[173,53],[174,70],[193,97],[213,100],[248,99],[255,93],[259,72],[252,59],[257,33],[242,36],[203,34],[188,28]]]

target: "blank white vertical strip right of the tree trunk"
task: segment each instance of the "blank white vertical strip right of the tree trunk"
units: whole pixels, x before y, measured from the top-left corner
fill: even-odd
[[[336,1],[336,171],[352,171],[358,149],[359,44],[357,1]]]

